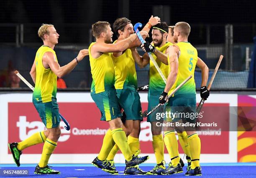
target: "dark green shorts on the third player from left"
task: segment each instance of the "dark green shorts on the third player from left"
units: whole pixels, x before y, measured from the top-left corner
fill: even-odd
[[[126,114],[126,120],[143,120],[140,95],[137,91],[117,89],[118,103]]]

